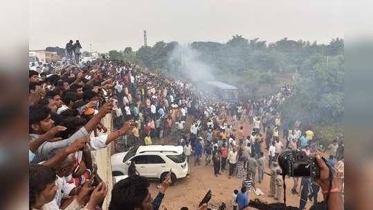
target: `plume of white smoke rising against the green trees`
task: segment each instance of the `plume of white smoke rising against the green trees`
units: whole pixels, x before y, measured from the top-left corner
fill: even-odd
[[[176,45],[168,57],[168,64],[192,82],[212,80],[212,68],[199,59],[201,54],[189,45]]]

